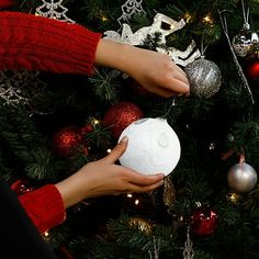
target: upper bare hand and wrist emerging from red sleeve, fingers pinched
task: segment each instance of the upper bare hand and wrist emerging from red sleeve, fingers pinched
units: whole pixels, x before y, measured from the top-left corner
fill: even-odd
[[[165,98],[190,93],[185,72],[167,54],[101,40],[95,63],[126,72],[149,92]]]

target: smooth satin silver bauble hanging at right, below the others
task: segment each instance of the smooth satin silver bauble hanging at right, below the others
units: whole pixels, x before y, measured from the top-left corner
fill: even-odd
[[[257,184],[257,172],[246,162],[236,164],[227,173],[227,183],[236,192],[249,192]]]

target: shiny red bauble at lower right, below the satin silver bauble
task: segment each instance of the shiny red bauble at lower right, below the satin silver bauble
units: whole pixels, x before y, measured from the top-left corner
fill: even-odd
[[[214,234],[217,226],[217,214],[209,206],[201,206],[191,216],[191,228],[198,236]]]

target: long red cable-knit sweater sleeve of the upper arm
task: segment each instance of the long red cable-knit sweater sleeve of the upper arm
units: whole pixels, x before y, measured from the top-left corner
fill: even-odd
[[[78,24],[0,12],[0,70],[92,74],[100,33]]]

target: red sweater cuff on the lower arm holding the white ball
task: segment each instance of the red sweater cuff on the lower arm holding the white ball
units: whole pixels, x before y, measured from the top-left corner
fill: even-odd
[[[54,184],[20,195],[19,200],[40,233],[65,221],[63,199]]]

